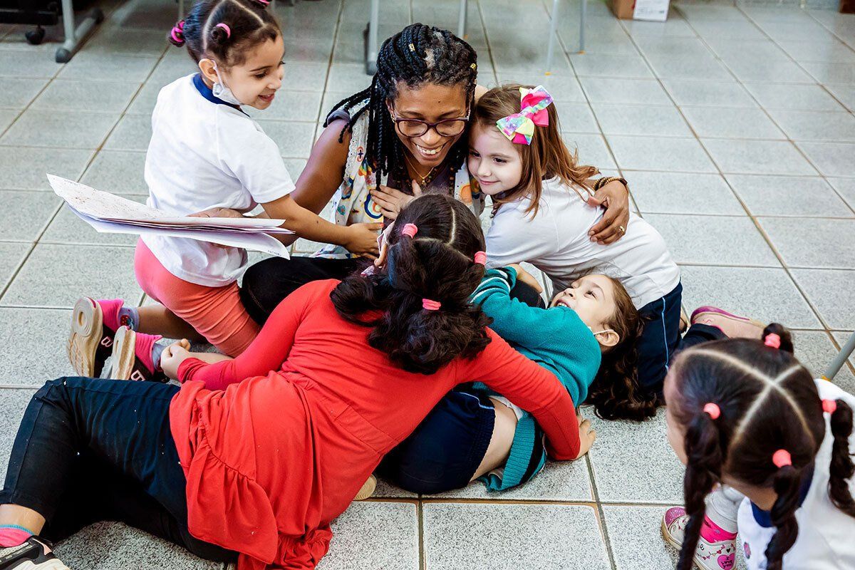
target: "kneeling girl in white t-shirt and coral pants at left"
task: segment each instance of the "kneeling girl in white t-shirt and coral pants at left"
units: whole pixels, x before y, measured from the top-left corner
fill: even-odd
[[[186,45],[199,70],[157,97],[145,157],[148,203],[169,214],[210,216],[261,204],[265,217],[286,220],[283,226],[299,237],[373,255],[380,224],[337,226],[300,207],[290,197],[294,184],[279,148],[241,109],[267,109],[282,85],[285,47],[267,4],[202,0],[170,32],[169,40]],[[204,338],[238,356],[259,330],[236,283],[246,261],[238,248],[145,236],[134,268],[139,285],[161,304],[135,309],[121,299],[80,299],[68,343],[75,370],[99,375],[122,325],[128,329],[115,339],[113,352],[121,360],[114,362],[115,378],[156,372],[157,338],[144,333]]]

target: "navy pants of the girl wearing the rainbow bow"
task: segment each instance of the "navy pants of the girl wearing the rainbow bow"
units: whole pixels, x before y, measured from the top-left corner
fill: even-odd
[[[678,283],[668,295],[639,309],[641,318],[646,320],[637,345],[639,385],[646,392],[660,397],[668,367],[680,350],[709,340],[727,338],[721,330],[709,325],[690,326],[681,338],[682,296],[683,285]]]

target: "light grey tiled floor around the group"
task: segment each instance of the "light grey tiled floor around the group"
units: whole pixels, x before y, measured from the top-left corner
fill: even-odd
[[[0,465],[34,388],[69,372],[63,343],[81,294],[143,301],[133,238],[98,235],[62,210],[45,172],[141,199],[158,89],[192,71],[167,47],[174,3],[107,0],[108,18],[67,65],[0,26]],[[332,103],[368,85],[367,0],[280,3],[286,92],[257,114],[292,174]],[[681,263],[686,304],[720,303],[797,330],[822,371],[855,329],[855,16],[787,6],[681,3],[665,23],[616,21],[591,0],[576,54],[578,0],[543,72],[544,0],[472,0],[481,82],[543,83],[581,160],[618,169]],[[410,21],[455,29],[456,0],[383,0],[382,36]],[[49,32],[51,34],[56,32]],[[855,389],[852,368],[837,379]],[[516,491],[480,485],[420,499],[386,485],[336,523],[326,570],[668,568],[658,537],[681,500],[663,417],[594,420],[583,461],[551,465]],[[3,470],[0,467],[0,471]],[[60,547],[73,568],[214,568],[115,524]]]

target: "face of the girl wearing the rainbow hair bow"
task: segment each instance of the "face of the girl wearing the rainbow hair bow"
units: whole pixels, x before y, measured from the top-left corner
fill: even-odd
[[[495,126],[475,124],[469,131],[469,175],[481,191],[494,195],[513,190],[522,179],[522,157]]]

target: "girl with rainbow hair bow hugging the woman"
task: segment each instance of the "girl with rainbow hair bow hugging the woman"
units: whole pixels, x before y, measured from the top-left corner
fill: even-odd
[[[528,261],[557,291],[587,273],[619,279],[645,321],[637,367],[630,370],[604,356],[587,401],[606,419],[643,420],[655,413],[676,350],[725,336],[758,336],[762,327],[754,332],[744,318],[705,308],[681,338],[680,270],[662,236],[630,214],[627,227],[620,228],[622,238],[593,241],[592,228],[604,214],[591,200],[590,179],[598,171],[578,165],[567,150],[551,101],[542,86],[504,85],[475,104],[469,173],[493,201],[487,267]]]

